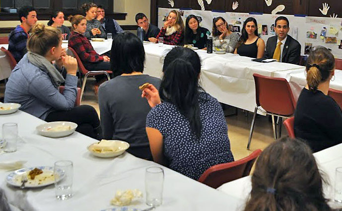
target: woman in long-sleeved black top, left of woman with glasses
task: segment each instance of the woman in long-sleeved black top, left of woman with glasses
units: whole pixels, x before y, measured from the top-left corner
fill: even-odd
[[[209,30],[200,27],[199,19],[195,15],[189,15],[185,21],[185,44],[193,44],[194,47],[206,50],[206,39],[210,35]]]

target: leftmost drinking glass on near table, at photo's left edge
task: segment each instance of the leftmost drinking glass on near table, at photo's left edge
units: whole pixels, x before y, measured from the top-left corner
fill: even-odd
[[[2,125],[2,138],[5,142],[4,151],[16,151],[16,141],[18,139],[18,125],[16,123],[5,123]]]

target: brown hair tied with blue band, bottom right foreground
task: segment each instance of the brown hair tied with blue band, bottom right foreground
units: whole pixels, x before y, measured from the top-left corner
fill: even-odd
[[[244,211],[331,211],[310,147],[284,137],[260,155],[252,175],[252,191]]]

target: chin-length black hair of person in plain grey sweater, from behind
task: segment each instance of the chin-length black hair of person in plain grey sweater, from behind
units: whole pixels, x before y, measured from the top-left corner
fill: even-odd
[[[111,50],[113,75],[142,72],[145,62],[145,50],[141,40],[132,32],[118,33],[113,37]]]

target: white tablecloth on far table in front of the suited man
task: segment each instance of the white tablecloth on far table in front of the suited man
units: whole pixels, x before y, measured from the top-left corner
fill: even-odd
[[[144,73],[160,77],[162,73],[162,55],[166,55],[172,46],[144,44],[146,63]],[[304,71],[304,67],[286,63],[258,63],[251,58],[236,54],[207,54],[196,50],[202,60],[201,82],[206,92],[218,101],[254,111],[255,84],[253,73],[290,79],[290,73]]]

